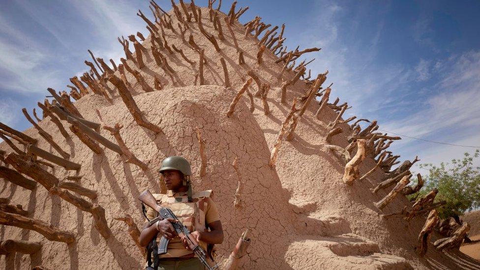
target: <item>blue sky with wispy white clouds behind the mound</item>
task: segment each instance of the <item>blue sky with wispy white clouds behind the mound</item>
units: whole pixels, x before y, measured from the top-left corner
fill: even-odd
[[[224,0],[228,11],[231,0]],[[158,0],[170,9],[170,1]],[[206,1],[196,1],[206,5]],[[437,142],[480,146],[480,1],[251,1],[255,15],[286,24],[294,49],[321,47],[312,74],[329,70],[332,96],[353,106],[347,116],[378,120],[390,132]],[[0,121],[23,130],[21,113],[47,87],[65,90],[86,71],[87,49],[122,56],[117,36],[148,31],[136,16],[148,1],[49,0],[0,2]],[[391,149],[401,159],[438,163],[472,148],[404,138]],[[477,162],[477,165],[480,165]]]

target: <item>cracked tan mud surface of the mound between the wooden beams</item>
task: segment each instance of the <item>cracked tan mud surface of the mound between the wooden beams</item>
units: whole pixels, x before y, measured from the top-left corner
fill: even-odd
[[[202,11],[204,28],[216,34],[208,9]],[[177,25],[173,12],[170,14],[173,25]],[[0,266],[5,269],[27,269],[37,265],[49,269],[139,269],[144,259],[127,234],[125,224],[113,218],[127,213],[141,227],[144,218],[137,196],[147,188],[157,193],[160,186],[156,169],[161,160],[179,154],[192,161],[194,188],[214,192],[213,200],[218,204],[225,230],[225,241],[218,245],[220,263],[228,257],[241,232],[250,228],[252,243],[248,255],[241,261],[243,269],[479,269],[478,262],[460,252],[443,253],[430,246],[423,259],[417,256],[417,237],[425,219],[418,217],[406,222],[380,217],[380,214],[400,211],[411,204],[398,196],[384,210],[375,208],[374,203],[390,192],[390,189],[377,194],[371,191],[385,176],[381,170],[352,186],[342,182],[345,162],[323,147],[328,124],[337,116],[330,108],[317,119],[314,114],[319,105],[312,102],[299,121],[294,139],[282,143],[276,167],[270,168],[270,150],[280,125],[294,97],[303,95],[308,87],[299,80],[288,88],[287,104],[282,104],[279,91],[282,80],[290,80],[294,73],[287,71],[278,78],[282,65],[274,63],[277,57],[269,50],[264,54],[264,61],[258,64],[257,39],[245,38],[243,27],[235,23],[233,29],[245,58],[244,64],[238,64],[237,50],[222,19],[224,14],[219,16],[225,35],[225,40],[218,40],[220,52],[215,51],[196,24],[191,23],[186,34],[191,33],[196,44],[205,49],[204,86],[193,85],[197,81],[198,53],[182,42],[178,29],[177,33],[166,30],[168,43],[183,50],[188,59],[197,62],[195,65],[188,64],[179,54],[162,51],[176,71],[172,80],[153,60],[149,36],[143,42],[149,52],[144,55],[146,67],[139,71],[151,86],[153,76],[160,78],[163,89],[144,92],[127,72],[138,107],[146,119],[162,128],[163,133],[155,134],[138,126],[112,85],[109,94],[114,99],[113,104],[96,94],[88,94],[75,102],[87,120],[98,122],[94,112],[98,109],[107,124],[122,124],[123,140],[148,164],[148,170],[124,162],[110,150],[94,154],[74,135],[65,140],[49,119],[39,122],[60,147],[71,154],[70,160],[82,165],[80,183],[98,192],[94,202],[105,208],[113,235],[103,239],[92,226],[89,213],[51,196],[41,186],[30,192],[3,181],[1,197],[8,198],[12,204],[22,204],[31,217],[75,233],[76,241],[66,245],[48,241],[33,231],[1,226],[1,239],[39,241],[43,247],[32,256],[2,256]],[[220,57],[227,62],[231,88],[223,86]],[[131,60],[128,63],[136,68]],[[249,69],[254,70],[262,82],[271,85],[267,99],[270,114],[264,114],[259,98],[255,98],[251,112],[245,95],[234,115],[227,118],[229,104],[248,78]],[[120,76],[119,72],[116,74]],[[256,90],[255,84],[249,88],[250,92]],[[62,123],[68,130],[68,124]],[[333,137],[331,143],[345,147],[346,137],[352,130],[348,124],[340,126],[344,132]],[[204,177],[199,176],[201,160],[196,127],[206,142],[208,165]],[[115,142],[108,131],[100,129],[98,132]],[[27,129],[25,133],[39,139],[38,147],[56,153],[35,129]],[[10,151],[4,143],[0,144],[0,149]],[[241,179],[231,165],[235,158],[239,159]],[[361,174],[374,165],[375,161],[367,158],[360,166]],[[45,169],[59,179],[74,174],[58,166],[53,171]],[[235,207],[233,201],[239,181],[243,187],[241,204]]]

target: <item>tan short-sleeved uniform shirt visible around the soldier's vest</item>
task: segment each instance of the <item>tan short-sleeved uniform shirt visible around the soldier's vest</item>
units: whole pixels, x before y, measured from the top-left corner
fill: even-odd
[[[173,193],[171,190],[169,190],[166,194],[167,197],[178,197],[178,196],[185,196],[185,195],[186,195],[186,192]],[[205,200],[207,202],[207,208],[205,209],[205,223],[209,224],[209,223],[212,223],[214,221],[220,220],[220,217],[218,215],[218,210],[217,210],[215,204],[213,203],[213,200],[211,198],[205,198]],[[163,202],[160,204],[160,206],[162,206],[162,207],[165,206],[165,205],[166,204],[164,204]],[[153,219],[158,215],[158,213],[155,210],[151,209],[150,207],[147,206],[146,208],[147,208],[147,218],[148,219]],[[174,209],[172,209],[172,211],[175,212]],[[180,219],[180,221],[182,221],[182,220]],[[203,244],[202,244],[202,246],[203,246]],[[189,256],[192,256],[192,253],[193,253],[192,251],[187,250],[183,246],[179,237],[175,237],[174,239],[172,239],[168,242],[167,253],[161,255],[160,257],[161,258],[182,257],[182,256],[189,257]]]

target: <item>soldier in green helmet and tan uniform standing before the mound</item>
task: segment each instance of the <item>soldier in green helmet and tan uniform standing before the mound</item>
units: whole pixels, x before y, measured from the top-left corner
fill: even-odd
[[[181,156],[165,158],[159,172],[163,175],[168,192],[153,194],[158,204],[171,209],[209,256],[212,256],[213,244],[223,241],[222,223],[217,208],[210,198],[212,191],[192,192],[190,163]],[[155,210],[148,207],[147,219],[151,220],[157,215]],[[150,254],[150,250],[148,252],[147,269],[154,269],[151,268],[152,261],[155,262],[157,259],[158,270],[204,269],[200,260],[195,258],[195,254],[188,248],[187,241],[178,237],[171,221],[174,220],[169,218],[159,220],[151,226],[148,223],[145,224],[139,241],[142,246],[151,243],[154,251],[153,254]],[[155,250],[162,236],[170,240],[167,253],[157,255]],[[153,256],[153,260],[150,256]]]

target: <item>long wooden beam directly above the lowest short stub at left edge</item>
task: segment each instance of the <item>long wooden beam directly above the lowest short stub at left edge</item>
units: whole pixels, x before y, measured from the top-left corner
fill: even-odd
[[[75,240],[75,236],[71,232],[61,231],[59,228],[39,219],[23,215],[0,211],[0,224],[33,230],[50,241],[71,243]]]

